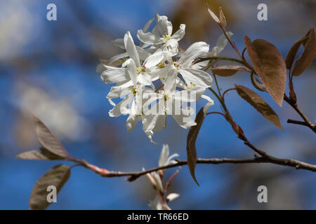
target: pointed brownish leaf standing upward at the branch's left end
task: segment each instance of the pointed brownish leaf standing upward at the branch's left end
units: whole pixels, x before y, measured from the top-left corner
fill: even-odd
[[[37,134],[37,139],[41,146],[46,148],[51,153],[58,155],[60,157],[66,158],[69,154],[60,142],[55,138],[51,131],[44,125],[44,123],[34,116],[35,122],[35,133]]]

